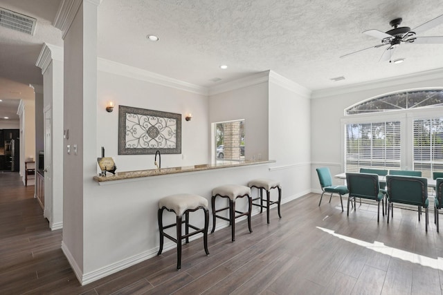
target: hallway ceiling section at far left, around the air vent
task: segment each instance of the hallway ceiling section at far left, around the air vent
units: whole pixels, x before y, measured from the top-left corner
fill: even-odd
[[[61,0],[0,0],[0,7],[37,19],[34,36],[0,27],[0,120],[18,120],[20,99],[34,99],[29,84],[43,85],[35,66],[44,42],[63,46],[62,32],[52,26]]]

